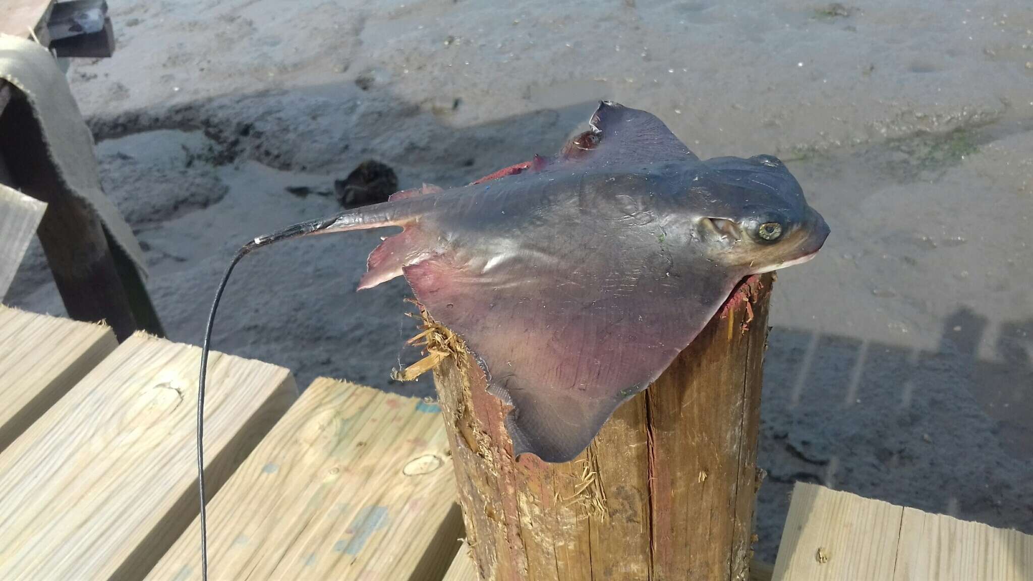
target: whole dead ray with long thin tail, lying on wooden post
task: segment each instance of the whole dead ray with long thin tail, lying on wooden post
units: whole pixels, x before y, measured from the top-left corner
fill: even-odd
[[[654,115],[602,101],[552,158],[452,189],[425,184],[241,248],[205,334],[201,466],[205,369],[233,266],[274,242],[383,226],[402,232],[373,250],[358,288],[404,276],[511,406],[513,454],[546,462],[585,450],[740,280],[813,257],[828,235],[778,158],[700,160]],[[200,495],[204,534],[202,484]]]

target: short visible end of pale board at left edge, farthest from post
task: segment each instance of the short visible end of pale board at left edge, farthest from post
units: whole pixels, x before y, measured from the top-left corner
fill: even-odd
[[[0,451],[117,346],[102,325],[0,305]]]

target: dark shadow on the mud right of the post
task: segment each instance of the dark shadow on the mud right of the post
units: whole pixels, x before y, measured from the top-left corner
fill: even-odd
[[[977,357],[988,327],[960,308],[935,350],[772,330],[763,558],[775,556],[796,481],[1033,532],[1033,318],[1000,326],[994,360]]]

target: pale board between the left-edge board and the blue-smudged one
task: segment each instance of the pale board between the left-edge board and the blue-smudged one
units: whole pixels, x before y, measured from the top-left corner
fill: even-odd
[[[137,333],[0,454],[0,579],[140,579],[197,514],[200,349]],[[214,493],[296,389],[212,354],[206,476]]]

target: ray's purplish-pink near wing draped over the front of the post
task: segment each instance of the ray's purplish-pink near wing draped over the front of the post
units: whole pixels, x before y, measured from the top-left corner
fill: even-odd
[[[523,221],[520,241],[480,242],[404,268],[419,302],[464,338],[492,393],[512,404],[514,453],[549,462],[580,454],[702,330],[739,279],[678,250],[681,233],[661,219],[606,207],[556,210],[566,227]]]

